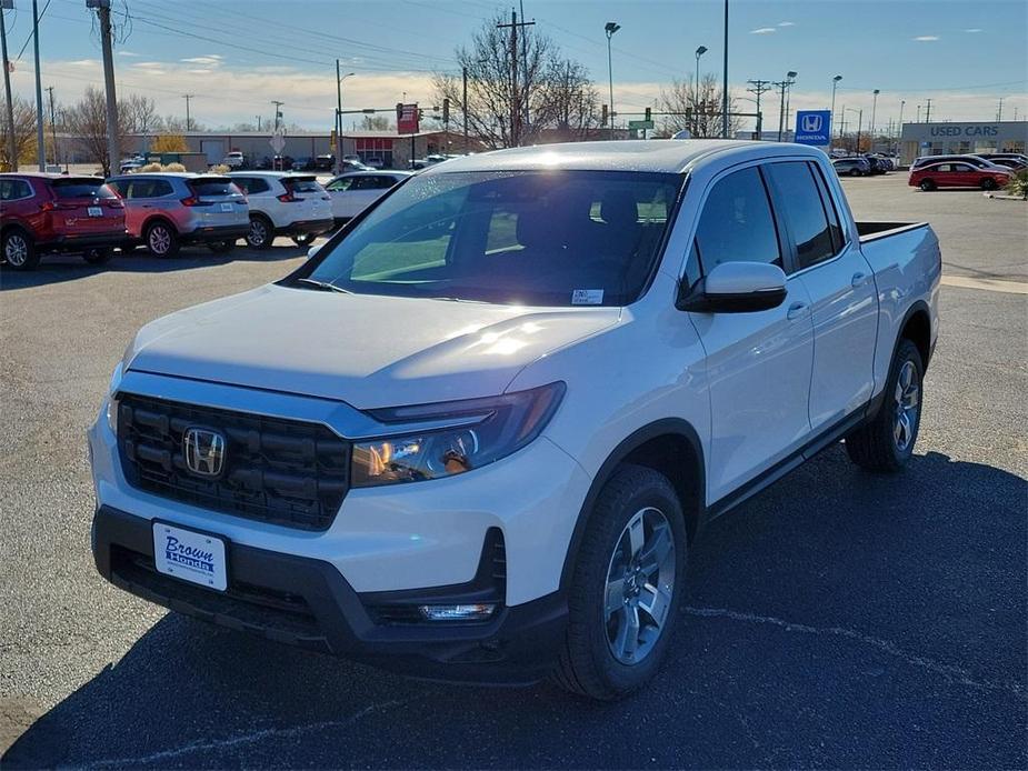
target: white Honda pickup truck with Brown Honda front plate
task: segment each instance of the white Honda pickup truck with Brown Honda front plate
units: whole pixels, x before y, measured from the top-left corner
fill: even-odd
[[[711,518],[840,440],[909,461],[939,277],[927,224],[855,222],[796,144],[448,161],[139,332],[89,432],[97,567],[272,640],[617,698]]]

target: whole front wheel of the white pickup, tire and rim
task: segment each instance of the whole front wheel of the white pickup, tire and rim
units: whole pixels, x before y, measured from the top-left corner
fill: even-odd
[[[666,477],[621,468],[589,518],[568,591],[555,679],[593,699],[645,684],[667,652],[685,581],[685,518]]]

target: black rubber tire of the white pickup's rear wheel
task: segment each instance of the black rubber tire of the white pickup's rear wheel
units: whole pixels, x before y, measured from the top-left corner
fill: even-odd
[[[908,414],[906,443],[900,445],[897,437],[899,422],[898,395],[904,369],[908,363],[914,368],[912,383],[916,386],[916,409]],[[846,452],[849,459],[866,471],[896,472],[907,464],[914,454],[914,445],[921,428],[921,404],[924,403],[925,364],[921,354],[910,340],[900,340],[889,368],[886,380],[885,401],[878,408],[878,414],[846,438]],[[906,394],[906,390],[904,389]],[[909,398],[905,395],[905,400]]]

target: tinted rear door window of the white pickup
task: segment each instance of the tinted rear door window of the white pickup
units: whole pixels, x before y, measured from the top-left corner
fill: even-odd
[[[828,217],[808,164],[786,161],[768,163],[765,168],[777,193],[776,208],[796,242],[798,267],[809,268],[831,258],[835,248]]]

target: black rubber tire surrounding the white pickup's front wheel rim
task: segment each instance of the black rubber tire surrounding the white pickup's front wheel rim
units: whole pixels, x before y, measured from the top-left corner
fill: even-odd
[[[618,544],[627,525],[640,511],[657,509],[669,524],[667,533],[673,544],[675,582],[670,601],[665,605],[662,624],[641,660],[623,663],[616,658],[610,641],[611,622],[617,612],[608,613],[608,573],[621,553]],[[610,701],[641,688],[660,668],[667,652],[678,609],[685,593],[688,557],[685,518],[675,488],[662,474],[638,465],[625,465],[607,482],[589,518],[575,561],[568,589],[568,631],[553,680],[563,689],[591,699]],[[627,573],[626,573],[627,575]],[[637,590],[638,591],[638,590]],[[615,604],[619,604],[615,600]],[[640,615],[638,619],[651,618]]]

